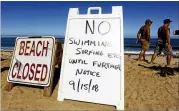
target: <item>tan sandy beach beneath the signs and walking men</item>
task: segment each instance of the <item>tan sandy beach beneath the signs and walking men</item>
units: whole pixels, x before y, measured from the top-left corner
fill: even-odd
[[[57,101],[59,76],[51,97],[43,96],[43,88],[15,85],[10,92],[4,90],[12,57],[10,52],[1,52],[1,109],[2,110],[116,110],[114,106],[65,100]],[[158,57],[155,64],[136,61],[137,55],[125,55],[125,110],[179,110],[178,59],[171,65],[175,76],[160,76],[160,67],[165,66],[165,57]],[[151,56],[146,57],[147,60]],[[107,95],[106,95],[107,96]]]

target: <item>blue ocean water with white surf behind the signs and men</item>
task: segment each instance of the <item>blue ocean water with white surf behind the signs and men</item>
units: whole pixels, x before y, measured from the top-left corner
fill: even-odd
[[[17,36],[1,36],[1,50],[13,50],[15,46],[15,40]],[[55,36],[57,40],[61,40],[64,43],[64,37]],[[156,37],[151,39],[151,44],[149,50],[146,54],[153,54],[155,45],[156,45]],[[179,37],[173,37],[171,39],[173,53],[179,53]],[[133,53],[138,54],[140,52],[140,44],[136,44],[136,38],[124,38],[124,52],[125,53]]]

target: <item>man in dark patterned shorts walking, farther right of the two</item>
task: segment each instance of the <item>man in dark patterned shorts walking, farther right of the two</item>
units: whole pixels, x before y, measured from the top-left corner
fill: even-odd
[[[172,46],[170,42],[170,28],[168,28],[170,25],[170,22],[172,22],[170,19],[165,19],[163,21],[164,25],[158,29],[158,41],[157,41],[154,54],[152,55],[152,59],[150,63],[153,63],[156,56],[160,55],[161,52],[163,52],[165,55],[167,55],[166,67],[170,67],[170,61],[172,57]]]

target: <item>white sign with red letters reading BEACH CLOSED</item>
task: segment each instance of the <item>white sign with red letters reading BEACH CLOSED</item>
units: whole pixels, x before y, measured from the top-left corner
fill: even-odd
[[[17,37],[7,81],[49,86],[54,47],[54,37]]]

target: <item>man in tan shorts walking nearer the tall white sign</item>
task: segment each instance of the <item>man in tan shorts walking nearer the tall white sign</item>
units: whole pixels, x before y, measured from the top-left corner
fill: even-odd
[[[143,60],[145,59],[145,52],[149,49],[150,45],[150,25],[152,24],[152,21],[150,19],[147,19],[145,21],[145,25],[142,26],[138,33],[137,33],[137,40],[136,43],[141,44],[141,52],[139,54],[138,61],[141,61],[141,58],[143,57]]]

